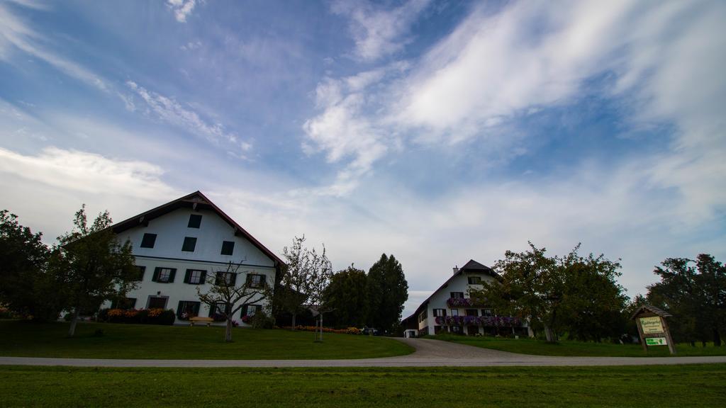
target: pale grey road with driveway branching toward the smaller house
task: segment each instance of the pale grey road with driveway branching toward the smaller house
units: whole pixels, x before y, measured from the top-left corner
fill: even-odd
[[[74,367],[494,367],[494,366],[604,366],[726,363],[726,356],[698,357],[558,357],[507,353],[428,339],[398,339],[416,348],[407,356],[348,360],[151,360],[56,359],[0,357],[0,365]]]

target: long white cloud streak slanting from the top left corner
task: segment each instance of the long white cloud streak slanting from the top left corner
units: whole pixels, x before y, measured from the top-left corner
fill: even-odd
[[[44,9],[41,4],[35,2],[18,1],[26,7]],[[78,79],[96,88],[107,91],[105,81],[83,68],[76,62],[67,60],[59,54],[50,51],[52,46],[45,46],[48,40],[26,25],[20,17],[14,15],[9,8],[0,4],[0,60],[12,62],[15,50],[20,50],[33,57],[52,65],[57,70],[68,76]]]

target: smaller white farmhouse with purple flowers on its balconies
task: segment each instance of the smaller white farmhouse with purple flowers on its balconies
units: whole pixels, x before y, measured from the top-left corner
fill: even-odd
[[[473,259],[460,268],[431,294],[414,314],[403,320],[406,337],[452,332],[461,335],[516,334],[526,335],[523,322],[513,317],[498,316],[487,305],[474,304],[470,289],[481,289],[482,282],[501,278],[489,266]]]

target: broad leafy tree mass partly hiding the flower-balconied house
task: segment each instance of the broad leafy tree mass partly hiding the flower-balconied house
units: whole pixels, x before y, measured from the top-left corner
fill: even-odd
[[[494,270],[501,281],[471,290],[470,297],[497,314],[529,320],[548,342],[569,332],[580,340],[613,337],[626,330],[627,297],[616,278],[620,264],[604,256],[579,256],[577,245],[564,257],[548,257],[529,242],[529,250],[507,250]]]

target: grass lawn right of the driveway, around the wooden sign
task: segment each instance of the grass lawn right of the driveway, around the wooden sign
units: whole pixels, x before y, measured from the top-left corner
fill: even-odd
[[[648,347],[648,354],[640,344],[587,343],[582,341],[563,340],[560,343],[547,343],[544,340],[531,338],[494,338],[469,337],[462,335],[428,336],[436,340],[453,341],[494,350],[510,351],[511,353],[537,354],[540,356],[613,356],[613,357],[644,357],[670,356],[667,346]],[[726,346],[691,347],[690,344],[677,344],[676,356],[723,356]]]

